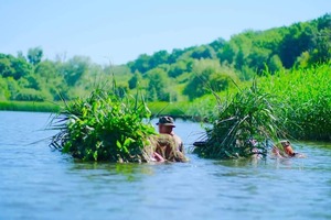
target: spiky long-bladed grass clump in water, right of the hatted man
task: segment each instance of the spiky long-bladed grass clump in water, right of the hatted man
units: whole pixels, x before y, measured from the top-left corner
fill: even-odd
[[[268,142],[282,133],[281,121],[275,116],[271,96],[257,87],[238,91],[224,102],[218,100],[218,112],[206,129],[203,144],[194,153],[207,158],[239,158],[259,153],[266,155]]]

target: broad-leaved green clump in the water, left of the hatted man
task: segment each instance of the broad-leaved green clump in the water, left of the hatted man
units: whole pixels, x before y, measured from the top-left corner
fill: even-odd
[[[154,129],[142,98],[121,98],[97,89],[86,99],[65,103],[52,128],[58,133],[51,145],[83,161],[143,162],[149,160],[149,138]]]

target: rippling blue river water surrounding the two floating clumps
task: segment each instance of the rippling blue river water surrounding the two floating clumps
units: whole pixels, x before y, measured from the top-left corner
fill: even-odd
[[[47,147],[49,113],[0,111],[0,219],[331,219],[331,144],[307,158],[78,163]],[[203,131],[178,120],[189,150]]]

